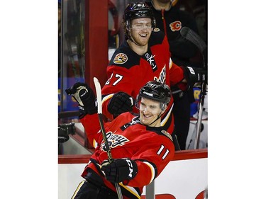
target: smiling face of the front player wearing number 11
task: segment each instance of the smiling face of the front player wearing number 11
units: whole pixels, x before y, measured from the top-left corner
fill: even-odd
[[[160,113],[162,113],[162,109],[160,108],[159,102],[152,101],[148,98],[141,98],[140,123],[142,123],[143,125],[151,126],[151,127],[160,127],[161,120],[160,119],[157,120],[158,115]]]

